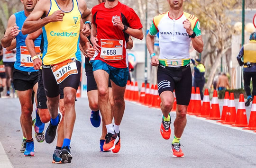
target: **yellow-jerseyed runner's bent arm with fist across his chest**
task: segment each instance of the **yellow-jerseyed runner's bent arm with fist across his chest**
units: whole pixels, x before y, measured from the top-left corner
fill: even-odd
[[[50,5],[50,0],[39,0],[37,2],[34,10],[23,24],[21,29],[23,35],[33,33],[50,22],[63,21],[64,12],[62,10],[57,10],[52,15],[42,18],[43,15],[48,14]]]

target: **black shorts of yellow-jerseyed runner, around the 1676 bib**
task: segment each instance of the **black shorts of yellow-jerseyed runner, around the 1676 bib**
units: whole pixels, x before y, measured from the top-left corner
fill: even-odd
[[[78,89],[78,86],[80,84],[80,77],[81,77],[81,62],[75,61],[76,67],[77,67],[77,74],[72,74],[68,76],[61,84],[63,85],[63,88],[65,87],[71,87],[74,89]],[[42,70],[42,76],[43,76],[43,83],[45,87],[45,92],[47,97],[56,97],[60,94],[60,85],[57,84],[54,74],[52,72],[52,69],[50,66],[43,65]]]

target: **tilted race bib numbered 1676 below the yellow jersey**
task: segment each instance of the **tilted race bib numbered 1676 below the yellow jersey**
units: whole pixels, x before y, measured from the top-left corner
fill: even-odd
[[[53,71],[57,84],[60,84],[69,75],[78,73],[75,58],[71,58],[55,65],[51,65],[51,69]]]

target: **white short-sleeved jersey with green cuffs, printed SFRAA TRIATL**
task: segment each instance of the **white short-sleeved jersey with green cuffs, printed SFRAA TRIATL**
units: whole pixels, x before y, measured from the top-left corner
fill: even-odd
[[[168,67],[185,66],[190,63],[191,38],[183,27],[183,21],[189,19],[196,36],[201,35],[200,23],[198,18],[186,12],[177,19],[170,18],[168,14],[165,12],[153,18],[149,34],[156,35],[159,32],[160,64]]]

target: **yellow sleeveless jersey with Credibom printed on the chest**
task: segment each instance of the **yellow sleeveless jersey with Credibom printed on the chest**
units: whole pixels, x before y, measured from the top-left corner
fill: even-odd
[[[57,2],[51,0],[48,16],[60,10]],[[64,11],[63,21],[51,22],[43,29],[44,51],[42,60],[44,65],[64,62],[72,57],[81,62],[79,49],[80,18],[77,0],[73,0],[73,9]]]

